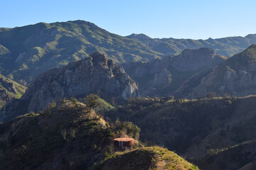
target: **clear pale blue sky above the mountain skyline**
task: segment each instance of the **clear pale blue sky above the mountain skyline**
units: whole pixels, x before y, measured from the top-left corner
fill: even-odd
[[[256,33],[255,0],[3,0],[0,27],[85,20],[119,35],[222,38]]]

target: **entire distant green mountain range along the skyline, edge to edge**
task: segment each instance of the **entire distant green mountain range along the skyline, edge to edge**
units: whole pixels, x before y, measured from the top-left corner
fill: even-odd
[[[208,40],[152,39],[146,35],[123,37],[86,21],[37,23],[0,28],[0,73],[23,85],[48,69],[88,57],[107,54],[114,62],[147,62],[178,55],[182,50],[210,47],[231,56],[256,42],[256,35]]]

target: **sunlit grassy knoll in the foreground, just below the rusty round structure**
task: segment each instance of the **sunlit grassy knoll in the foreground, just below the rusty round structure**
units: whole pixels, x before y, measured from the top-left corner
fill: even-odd
[[[130,152],[115,154],[100,164],[100,169],[139,170],[139,169],[177,169],[196,170],[197,166],[187,162],[174,152],[162,147],[144,147]]]

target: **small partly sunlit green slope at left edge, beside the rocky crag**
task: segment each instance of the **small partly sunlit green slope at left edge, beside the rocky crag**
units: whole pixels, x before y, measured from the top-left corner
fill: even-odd
[[[7,79],[0,74],[0,108],[4,106],[7,101],[13,98],[20,98],[26,91],[25,86]]]

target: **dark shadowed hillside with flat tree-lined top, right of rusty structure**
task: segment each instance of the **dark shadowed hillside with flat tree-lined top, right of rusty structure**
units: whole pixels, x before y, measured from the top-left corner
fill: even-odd
[[[256,140],[256,96],[167,100],[133,98],[105,113],[141,128],[140,140],[186,157]]]

